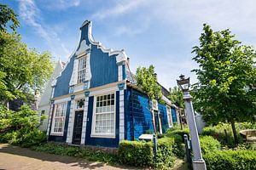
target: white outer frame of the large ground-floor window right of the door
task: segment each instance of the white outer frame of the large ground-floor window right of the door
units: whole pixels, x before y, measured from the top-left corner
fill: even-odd
[[[96,99],[97,97],[113,94],[114,95],[114,109],[113,109],[113,133],[96,133]],[[115,128],[116,128],[116,94],[115,92],[108,92],[105,94],[97,94],[94,96],[94,102],[93,102],[93,113],[92,113],[92,123],[91,123],[91,133],[90,137],[93,138],[115,138]]]

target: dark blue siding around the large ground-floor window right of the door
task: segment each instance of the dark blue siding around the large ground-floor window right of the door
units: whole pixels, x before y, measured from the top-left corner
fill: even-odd
[[[93,103],[94,103],[94,96],[90,96],[89,104],[88,104],[88,115],[87,115],[89,121],[86,124],[85,144],[117,148],[119,146],[119,92],[116,92],[116,117],[115,117],[116,128],[115,128],[114,139],[90,137],[92,116],[93,116]]]

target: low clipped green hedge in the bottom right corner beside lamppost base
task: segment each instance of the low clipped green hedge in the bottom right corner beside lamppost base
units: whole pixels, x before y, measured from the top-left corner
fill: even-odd
[[[208,170],[254,170],[256,169],[255,150],[218,150],[204,156]]]

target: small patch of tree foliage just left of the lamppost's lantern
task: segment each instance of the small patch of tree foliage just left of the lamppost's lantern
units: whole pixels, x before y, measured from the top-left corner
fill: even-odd
[[[177,86],[170,88],[170,95],[168,96],[168,99],[170,99],[172,103],[178,107],[185,107],[183,101],[183,92],[180,88],[177,88]]]

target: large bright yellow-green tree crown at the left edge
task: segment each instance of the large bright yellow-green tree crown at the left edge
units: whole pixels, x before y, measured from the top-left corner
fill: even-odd
[[[20,35],[0,31],[0,101],[27,99],[42,90],[53,71],[48,52],[28,49]]]

